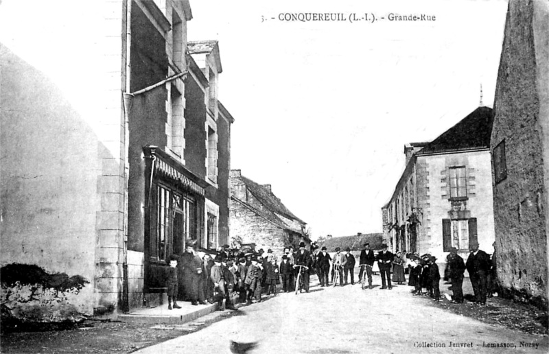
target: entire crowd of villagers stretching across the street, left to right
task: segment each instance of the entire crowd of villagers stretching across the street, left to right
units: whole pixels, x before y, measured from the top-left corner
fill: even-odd
[[[471,243],[471,253],[465,263],[458,255],[458,250],[452,248],[446,259],[444,279],[452,283],[452,302],[463,303],[463,279],[465,270],[469,272],[473,285],[475,302],[486,303],[491,294],[492,279],[495,274],[495,254],[493,257],[478,249],[478,243]],[[170,272],[167,279],[168,309],[180,308],[177,300],[190,301],[192,305],[218,303],[218,308],[236,309],[234,301],[240,303],[261,302],[263,295],[276,295],[277,292],[291,292],[295,289],[297,275],[300,276],[300,288],[309,292],[309,276],[316,274],[320,287],[336,285],[344,286],[355,283],[355,257],[350,248],[331,256],[326,247],[318,250],[313,244],[311,251],[305,249],[301,242],[294,252],[292,246],[283,250],[283,255],[277,257],[271,249],[238,250],[224,245],[214,256],[205,254],[202,258],[195,250],[193,241],[187,241],[183,255],[170,258]],[[409,253],[403,257],[399,251],[396,254],[388,251],[386,244],[375,255],[368,243],[360,252],[359,281],[364,275],[364,283],[373,289],[372,274],[377,261],[382,279],[381,289],[393,289],[393,283],[406,283],[414,287],[415,296],[428,295],[434,300],[441,300],[439,283],[441,280],[436,257],[419,253]]]

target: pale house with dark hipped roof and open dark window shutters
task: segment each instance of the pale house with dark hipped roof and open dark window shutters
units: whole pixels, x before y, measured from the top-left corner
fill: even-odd
[[[479,107],[434,141],[404,147],[406,168],[382,208],[393,251],[430,253],[439,263],[452,247],[467,257],[471,241],[493,252],[491,123],[491,108]]]

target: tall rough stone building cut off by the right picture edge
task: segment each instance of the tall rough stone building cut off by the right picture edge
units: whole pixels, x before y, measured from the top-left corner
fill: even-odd
[[[497,272],[504,295],[547,308],[549,3],[510,1],[491,135]]]

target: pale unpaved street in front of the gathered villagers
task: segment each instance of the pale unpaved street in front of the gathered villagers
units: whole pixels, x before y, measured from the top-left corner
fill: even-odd
[[[375,277],[373,290],[360,285],[325,288],[313,276],[309,294],[279,294],[243,307],[240,316],[137,353],[230,353],[229,340],[259,342],[252,353],[549,351],[547,336],[452,314],[433,307],[430,298],[412,296],[406,285],[380,290],[379,282]]]

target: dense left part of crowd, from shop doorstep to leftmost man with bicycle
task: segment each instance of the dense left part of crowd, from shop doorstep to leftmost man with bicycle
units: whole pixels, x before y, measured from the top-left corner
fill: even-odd
[[[294,252],[292,246],[284,248],[276,257],[271,249],[238,250],[224,245],[216,255],[205,253],[201,258],[195,244],[187,240],[185,252],[170,258],[167,279],[168,309],[180,308],[177,300],[192,305],[218,303],[218,309],[235,310],[240,303],[261,302],[262,295],[276,295],[295,287],[299,266],[303,267],[303,290],[309,292],[309,273],[314,261],[301,242]]]

